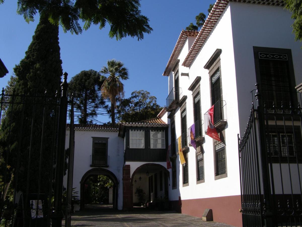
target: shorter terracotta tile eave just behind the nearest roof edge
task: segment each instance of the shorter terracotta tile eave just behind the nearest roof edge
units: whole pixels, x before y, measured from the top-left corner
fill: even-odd
[[[185,44],[185,41],[187,40],[188,36],[197,36],[198,35],[198,31],[185,31],[182,30],[182,32],[180,33],[178,40],[175,44],[174,50],[172,51],[172,54],[170,56],[170,59],[168,61],[168,64],[165,68],[164,73],[162,74],[163,76],[169,76],[169,73],[172,70],[172,67],[175,64],[175,61],[177,60],[180,51],[182,50],[182,47]]]

